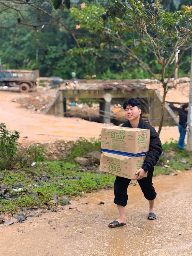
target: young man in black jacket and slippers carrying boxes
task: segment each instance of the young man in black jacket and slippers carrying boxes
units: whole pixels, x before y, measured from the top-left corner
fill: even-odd
[[[123,108],[125,116],[128,119],[122,127],[142,128],[150,130],[149,138],[149,152],[145,155],[145,159],[141,168],[136,171],[138,175],[137,180],[144,194],[144,197],[149,201],[149,215],[148,219],[154,220],[156,212],[154,208],[154,199],[156,192],[153,187],[152,177],[154,166],[156,165],[162,153],[162,146],[159,135],[149,123],[145,122],[141,117],[141,102],[138,99],[130,99],[124,102]],[[146,152],[144,152],[146,153]],[[136,157],[137,158],[137,157]],[[147,177],[146,177],[147,173]],[[120,227],[126,224],[125,206],[127,205],[128,195],[127,188],[131,179],[117,176],[114,183],[114,203],[117,205],[119,211],[119,218],[111,222],[109,227]]]

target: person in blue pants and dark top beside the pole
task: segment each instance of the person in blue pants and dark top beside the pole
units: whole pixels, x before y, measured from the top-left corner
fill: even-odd
[[[178,144],[177,144],[177,147],[179,149],[183,149],[184,146],[185,146],[185,135],[186,135],[186,132],[187,132],[188,110],[189,110],[188,104],[184,104],[182,106],[182,110],[179,113],[178,128],[179,128],[180,136],[179,136],[179,141],[178,141]]]

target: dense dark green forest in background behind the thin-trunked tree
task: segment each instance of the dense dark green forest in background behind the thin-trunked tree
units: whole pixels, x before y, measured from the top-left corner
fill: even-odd
[[[110,15],[113,15],[112,2],[107,1],[105,4],[106,7],[111,5]],[[148,2],[152,4],[152,1]],[[97,41],[93,33],[82,27],[77,29],[79,23],[71,15],[71,9],[68,10],[69,3],[70,1],[64,3],[57,0],[54,4],[48,0],[32,1],[32,3],[22,0],[15,3],[0,1],[0,57],[5,68],[38,68],[40,76],[60,76],[64,79],[71,78],[73,71],[76,71],[77,77],[81,79],[93,74],[96,74],[96,78],[102,79],[153,77],[143,69],[141,63],[132,57],[125,59],[118,48],[111,47],[109,42],[107,43],[110,39],[107,35],[104,40]],[[85,1],[85,3],[94,13],[92,5],[95,2]],[[97,3],[102,5],[102,0]],[[180,1],[180,4],[182,3],[188,4],[186,1]],[[82,1],[70,4],[71,7],[82,10]],[[163,1],[163,5],[167,11],[173,11],[172,0]],[[101,17],[105,16],[101,15]],[[96,20],[93,21],[98,30]],[[140,48],[142,60],[153,67],[155,74],[160,73],[161,67],[158,61],[148,52],[147,47],[138,45],[138,39],[131,31],[125,32],[125,35],[127,43],[132,43],[135,51]],[[77,47],[77,43],[81,44],[81,49]],[[188,59],[188,62],[179,67],[181,77],[189,76],[190,51],[184,54],[183,59]]]

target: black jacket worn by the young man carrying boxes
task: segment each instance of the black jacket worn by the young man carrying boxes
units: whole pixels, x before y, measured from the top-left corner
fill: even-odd
[[[130,122],[127,121],[122,126],[131,127]],[[139,119],[139,128],[141,129],[149,129],[150,130],[150,140],[149,140],[149,153],[146,155],[142,168],[147,171],[153,171],[154,166],[157,164],[159,157],[163,151],[161,146],[161,141],[159,135],[157,134],[154,127],[152,127],[149,123],[144,121],[141,116]]]

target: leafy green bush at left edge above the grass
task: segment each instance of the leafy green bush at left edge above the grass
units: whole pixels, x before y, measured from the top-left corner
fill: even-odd
[[[17,161],[19,132],[10,132],[6,125],[0,124],[0,170],[12,168]]]

